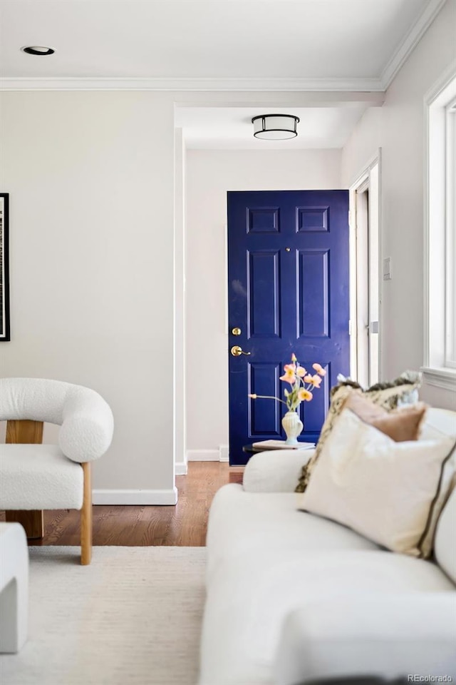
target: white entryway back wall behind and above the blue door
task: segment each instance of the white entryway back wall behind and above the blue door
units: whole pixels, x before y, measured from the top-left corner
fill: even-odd
[[[337,189],[340,162],[337,150],[187,151],[186,385],[191,459],[216,459],[219,446],[228,444],[227,191]]]

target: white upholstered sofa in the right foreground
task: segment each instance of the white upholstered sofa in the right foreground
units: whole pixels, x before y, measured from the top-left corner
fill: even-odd
[[[456,413],[427,424],[456,438]],[[298,685],[335,676],[456,679],[456,490],[435,559],[379,548],[296,510],[310,451],[254,455],[214,497],[199,685]]]

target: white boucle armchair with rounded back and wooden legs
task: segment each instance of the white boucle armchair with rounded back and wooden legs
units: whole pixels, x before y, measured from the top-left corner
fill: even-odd
[[[41,517],[43,509],[80,509],[81,564],[90,564],[90,462],[105,454],[113,438],[108,403],[81,385],[3,378],[0,421],[7,422],[6,444],[0,445],[0,509]],[[41,444],[43,422],[61,427],[58,445]]]

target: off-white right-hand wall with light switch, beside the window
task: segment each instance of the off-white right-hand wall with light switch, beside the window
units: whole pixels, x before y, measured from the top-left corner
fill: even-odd
[[[381,110],[370,110],[343,149],[342,184],[349,186],[382,148],[381,239],[392,260],[392,280],[382,283],[383,377],[423,365],[423,96],[456,59],[456,2],[447,1],[400,69]],[[448,390],[425,385],[422,397],[455,406]]]

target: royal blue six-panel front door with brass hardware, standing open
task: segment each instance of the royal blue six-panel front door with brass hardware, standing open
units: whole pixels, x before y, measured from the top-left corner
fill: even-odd
[[[247,463],[243,445],[285,437],[286,407],[248,395],[284,399],[293,352],[326,369],[300,407],[301,440],[316,442],[329,389],[349,374],[348,191],[228,193],[228,298],[229,463]]]

